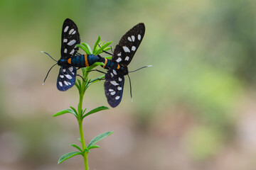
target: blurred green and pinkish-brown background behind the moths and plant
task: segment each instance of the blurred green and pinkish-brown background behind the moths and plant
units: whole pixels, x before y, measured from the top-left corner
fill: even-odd
[[[0,169],[82,169],[82,157],[57,165],[78,142],[75,87],[56,89],[63,21],[82,42],[114,47],[144,22],[144,40],[117,108],[85,119],[85,140],[113,130],[89,154],[90,169],[200,170],[256,166],[256,2],[254,0],[0,0]],[[82,52],[82,50],[80,50]],[[97,77],[99,73],[92,73]],[[108,106],[103,81],[84,107]]]

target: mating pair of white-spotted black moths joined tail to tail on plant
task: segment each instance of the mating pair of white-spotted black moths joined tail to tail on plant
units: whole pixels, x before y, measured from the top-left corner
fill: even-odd
[[[60,66],[60,72],[57,78],[58,90],[66,91],[75,84],[77,67],[89,67],[95,62],[102,62],[104,63],[102,67],[107,69],[104,84],[105,96],[110,106],[113,108],[118,106],[122,100],[124,76],[129,74],[127,66],[132,61],[135,52],[142,42],[144,33],[144,23],[138,23],[132,29],[128,30],[114,48],[112,60],[108,60],[100,55],[80,55],[78,53],[78,47],[76,47],[77,44],[80,44],[78,26],[69,18],[65,19],[61,36],[60,60],[55,60],[57,62],[56,64]],[[47,52],[44,53],[48,55]],[[46,78],[47,76],[48,74]]]

